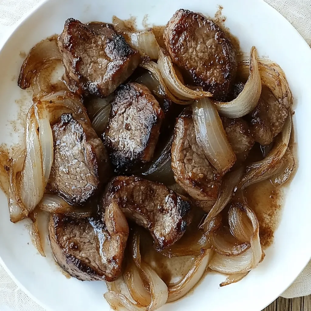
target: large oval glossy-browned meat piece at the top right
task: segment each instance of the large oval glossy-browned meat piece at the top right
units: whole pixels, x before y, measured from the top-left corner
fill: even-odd
[[[165,27],[164,42],[173,62],[187,69],[197,85],[225,99],[237,70],[236,52],[213,21],[178,10]]]

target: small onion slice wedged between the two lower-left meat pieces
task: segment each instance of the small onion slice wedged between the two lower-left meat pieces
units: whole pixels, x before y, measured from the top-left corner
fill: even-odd
[[[44,194],[37,207],[50,213],[65,214],[76,218],[90,217],[92,214],[89,209],[73,207],[61,197],[53,194]]]

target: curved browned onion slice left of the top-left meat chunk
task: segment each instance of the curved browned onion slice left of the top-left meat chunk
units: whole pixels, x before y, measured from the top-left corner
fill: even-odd
[[[26,89],[30,86],[32,79],[49,62],[62,59],[57,47],[58,35],[53,35],[37,43],[29,52],[21,66],[17,85]]]

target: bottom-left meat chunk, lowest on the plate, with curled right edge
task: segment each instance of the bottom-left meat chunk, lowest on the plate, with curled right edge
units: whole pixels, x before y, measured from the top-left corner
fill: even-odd
[[[60,267],[81,281],[114,281],[121,267],[128,224],[116,204],[97,218],[51,214],[49,238]]]

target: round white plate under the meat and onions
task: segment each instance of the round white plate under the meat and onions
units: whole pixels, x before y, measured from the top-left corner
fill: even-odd
[[[221,2],[221,3],[220,3]],[[194,293],[161,310],[259,311],[279,296],[311,257],[310,209],[310,115],[311,50],[298,32],[263,1],[232,0],[49,0],[37,7],[16,27],[0,52],[0,142],[17,142],[8,121],[18,118],[18,104],[27,100],[16,85],[23,58],[39,40],[60,33],[65,20],[111,21],[145,14],[150,24],[164,25],[179,8],[214,16],[221,4],[225,25],[239,38],[241,48],[252,45],[259,55],[270,57],[285,71],[295,98],[295,136],[299,169],[290,184],[275,242],[265,260],[242,281],[219,287],[224,276],[209,274]],[[22,53],[21,53],[22,54]],[[22,115],[24,118],[25,115]],[[14,124],[13,124],[14,125]],[[109,310],[103,298],[104,282],[67,279],[53,259],[41,257],[31,243],[25,223],[10,223],[7,199],[0,193],[0,256],[14,280],[49,310]]]

